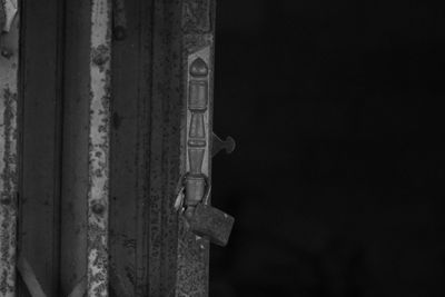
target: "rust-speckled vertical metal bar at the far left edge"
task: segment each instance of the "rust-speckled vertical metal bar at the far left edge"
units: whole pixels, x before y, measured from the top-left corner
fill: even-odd
[[[19,23],[1,38],[0,56],[0,296],[16,296]],[[7,53],[7,55],[4,55]]]

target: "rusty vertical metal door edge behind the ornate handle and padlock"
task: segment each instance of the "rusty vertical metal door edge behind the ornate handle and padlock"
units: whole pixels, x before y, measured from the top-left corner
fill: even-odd
[[[206,131],[205,155],[201,164],[201,172],[209,177],[211,174],[211,117],[212,117],[212,77],[214,77],[214,0],[185,0],[182,2],[182,79],[184,83],[184,115],[181,126],[181,174],[190,170],[188,149],[189,131],[192,110],[189,106],[189,91],[191,81],[204,80],[207,88],[207,109],[204,112],[204,130]],[[208,73],[205,77],[191,76],[192,63],[201,59]],[[178,235],[178,297],[206,297],[208,296],[208,261],[209,241],[191,234],[184,218],[179,220]]]

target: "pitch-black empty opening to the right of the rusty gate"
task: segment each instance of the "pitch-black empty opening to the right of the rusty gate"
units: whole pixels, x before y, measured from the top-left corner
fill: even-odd
[[[217,11],[210,296],[445,296],[443,6]]]

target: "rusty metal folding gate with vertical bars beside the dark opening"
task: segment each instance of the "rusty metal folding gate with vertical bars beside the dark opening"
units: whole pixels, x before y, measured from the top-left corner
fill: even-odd
[[[215,1],[6,0],[0,21],[0,296],[207,296],[175,202],[221,146]]]

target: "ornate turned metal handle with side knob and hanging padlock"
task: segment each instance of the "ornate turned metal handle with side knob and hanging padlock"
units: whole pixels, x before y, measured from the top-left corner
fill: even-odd
[[[211,130],[211,49],[204,47],[187,57],[187,100],[185,112],[185,172],[177,188],[175,207],[185,226],[211,242],[227,245],[235,219],[210,206],[210,159],[225,149],[231,152],[235,141],[225,141]]]

